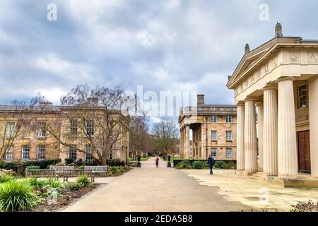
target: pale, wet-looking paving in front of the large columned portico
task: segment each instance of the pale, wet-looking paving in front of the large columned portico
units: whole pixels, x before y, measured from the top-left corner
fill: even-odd
[[[218,186],[218,194],[228,201],[238,201],[254,209],[266,208],[289,211],[298,201],[318,202],[317,188],[283,188],[255,179],[238,176],[234,170],[214,170],[213,177],[208,170],[182,169],[189,177],[205,186]]]

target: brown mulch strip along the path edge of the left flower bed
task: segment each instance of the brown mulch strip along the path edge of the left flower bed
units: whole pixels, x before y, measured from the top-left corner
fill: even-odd
[[[48,205],[47,202],[40,204],[33,209],[34,212],[52,212],[62,208],[66,208],[71,203],[75,203],[79,198],[86,196],[91,191],[97,189],[100,184],[94,184],[90,187],[81,187],[78,191],[72,191],[70,189],[62,189],[61,195],[57,198],[57,204]]]

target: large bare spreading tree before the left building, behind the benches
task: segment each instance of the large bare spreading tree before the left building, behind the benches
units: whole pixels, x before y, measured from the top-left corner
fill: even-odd
[[[106,165],[113,150],[128,146],[129,117],[121,112],[125,101],[119,87],[78,85],[61,97],[61,119],[47,119],[45,129],[61,144],[62,152],[86,153]]]

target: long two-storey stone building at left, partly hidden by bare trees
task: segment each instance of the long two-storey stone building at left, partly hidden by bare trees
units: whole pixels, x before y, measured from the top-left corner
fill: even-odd
[[[85,114],[79,114],[82,111],[85,111]],[[4,141],[1,143],[1,153],[6,149],[4,160],[92,160],[88,153],[79,152],[72,147],[88,150],[89,139],[95,141],[100,138],[101,128],[98,122],[100,116],[105,113],[103,111],[103,107],[96,105],[84,108],[54,106],[50,102],[40,102],[40,106],[35,107],[0,105],[0,136]],[[121,112],[111,111],[110,117],[115,119],[118,114]],[[54,135],[47,131],[48,128],[55,131]],[[112,153],[108,157],[126,161],[129,153],[129,133],[122,134],[123,138],[112,144]],[[57,138],[65,142],[67,140],[67,143],[73,144],[72,147],[62,145]]]

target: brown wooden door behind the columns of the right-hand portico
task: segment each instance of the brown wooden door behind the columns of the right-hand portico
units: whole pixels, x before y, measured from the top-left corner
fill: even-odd
[[[298,132],[298,169],[310,172],[310,131]]]

